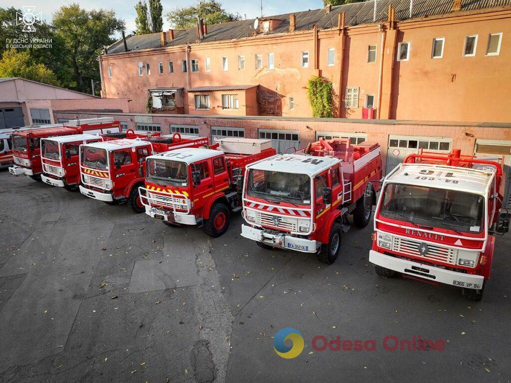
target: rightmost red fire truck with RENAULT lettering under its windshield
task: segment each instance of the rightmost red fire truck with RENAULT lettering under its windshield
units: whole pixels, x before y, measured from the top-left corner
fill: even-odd
[[[502,165],[459,150],[411,154],[383,181],[369,261],[376,273],[462,288],[482,299],[495,234],[509,230]]]

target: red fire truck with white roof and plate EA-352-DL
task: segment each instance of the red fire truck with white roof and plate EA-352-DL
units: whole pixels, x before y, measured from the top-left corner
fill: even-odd
[[[277,155],[247,167],[241,235],[264,249],[274,247],[316,254],[331,264],[339,253],[341,232],[353,214],[367,226],[376,202],[369,181],[382,175],[378,144],[349,139],[319,140],[295,154]]]

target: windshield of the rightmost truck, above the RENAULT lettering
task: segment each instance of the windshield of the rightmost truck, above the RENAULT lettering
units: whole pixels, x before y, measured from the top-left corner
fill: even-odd
[[[458,190],[389,184],[385,187],[381,215],[415,225],[480,233],[484,197]]]

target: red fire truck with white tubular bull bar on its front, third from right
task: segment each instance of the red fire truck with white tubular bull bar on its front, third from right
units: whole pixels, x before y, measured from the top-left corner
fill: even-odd
[[[211,149],[178,149],[147,158],[139,188],[146,214],[169,226],[202,224],[211,237],[225,233],[241,209],[245,167],[275,154],[270,140],[225,138]]]

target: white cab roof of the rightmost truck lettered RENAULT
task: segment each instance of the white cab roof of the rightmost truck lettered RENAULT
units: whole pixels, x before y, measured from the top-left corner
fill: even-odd
[[[399,164],[385,178],[385,183],[453,189],[486,194],[493,182],[495,168],[461,168],[433,164]]]

